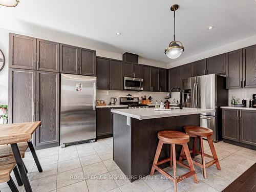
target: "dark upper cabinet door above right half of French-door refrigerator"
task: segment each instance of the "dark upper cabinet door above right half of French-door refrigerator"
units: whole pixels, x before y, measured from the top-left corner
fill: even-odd
[[[206,59],[206,74],[226,73],[226,54],[217,55]]]

